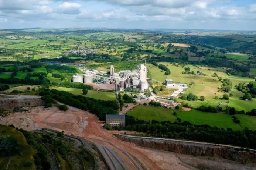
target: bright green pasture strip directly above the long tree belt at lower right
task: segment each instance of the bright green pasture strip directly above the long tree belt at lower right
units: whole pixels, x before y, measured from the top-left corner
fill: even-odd
[[[163,107],[139,105],[127,114],[146,121],[170,120],[174,122],[176,121],[176,117],[173,115],[173,111],[172,109],[165,109]],[[208,113],[194,109],[191,111],[175,111],[177,112],[177,117],[181,118],[182,121],[188,121],[196,125],[207,124],[218,128],[232,128],[233,130],[243,130],[245,127],[248,127],[251,130],[256,130],[256,117],[236,114],[235,116],[241,121],[240,124],[236,124],[232,116],[225,113]]]

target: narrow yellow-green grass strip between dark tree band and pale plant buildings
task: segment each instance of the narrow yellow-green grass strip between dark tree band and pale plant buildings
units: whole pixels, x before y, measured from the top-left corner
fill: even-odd
[[[66,91],[72,93],[74,95],[82,95],[82,89],[74,89],[74,88],[65,88],[65,87],[58,87],[58,88],[50,88],[56,89],[61,91]],[[100,99],[100,100],[115,100],[116,95],[114,92],[105,92],[105,91],[95,91],[95,90],[88,90],[88,93],[85,95],[89,98]]]

